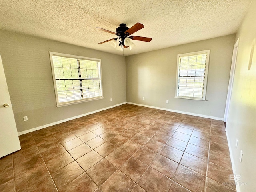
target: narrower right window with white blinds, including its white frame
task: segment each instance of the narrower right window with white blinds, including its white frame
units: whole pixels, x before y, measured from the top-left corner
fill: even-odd
[[[210,50],[179,54],[176,98],[205,100]]]

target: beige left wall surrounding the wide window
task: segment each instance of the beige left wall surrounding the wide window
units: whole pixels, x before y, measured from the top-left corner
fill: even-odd
[[[104,99],[57,108],[49,51],[101,59]],[[4,30],[0,53],[18,132],[126,102],[123,56]]]

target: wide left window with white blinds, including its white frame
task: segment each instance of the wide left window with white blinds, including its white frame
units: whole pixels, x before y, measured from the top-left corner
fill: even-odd
[[[50,52],[57,106],[103,98],[100,59]]]

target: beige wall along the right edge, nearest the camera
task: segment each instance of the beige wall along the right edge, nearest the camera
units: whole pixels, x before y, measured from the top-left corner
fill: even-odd
[[[252,4],[238,30],[239,38],[236,70],[226,125],[233,166],[241,175],[241,192],[256,190],[256,48],[251,69],[248,70],[252,42],[256,39],[256,0]],[[235,147],[238,139],[238,148]],[[242,163],[239,161],[243,152]]]

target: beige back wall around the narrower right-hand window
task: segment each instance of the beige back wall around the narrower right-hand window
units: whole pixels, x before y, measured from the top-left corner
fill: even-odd
[[[223,118],[234,39],[232,34],[126,56],[127,102]],[[177,54],[208,49],[207,101],[174,98]]]

